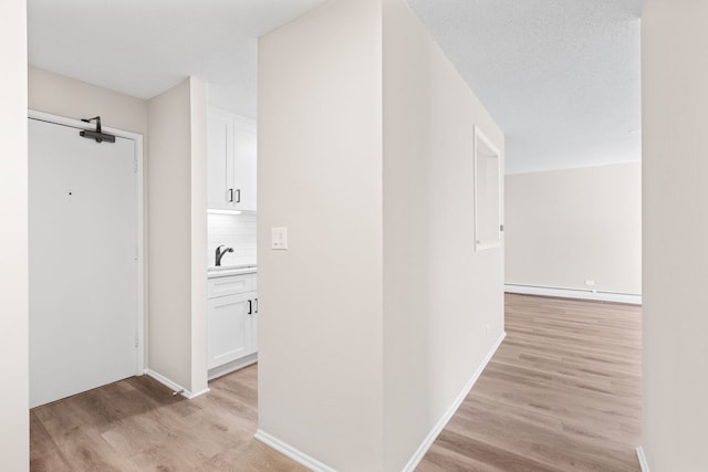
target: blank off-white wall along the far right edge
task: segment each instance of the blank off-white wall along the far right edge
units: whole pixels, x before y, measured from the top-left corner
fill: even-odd
[[[644,0],[643,411],[652,471],[705,471],[708,2]]]

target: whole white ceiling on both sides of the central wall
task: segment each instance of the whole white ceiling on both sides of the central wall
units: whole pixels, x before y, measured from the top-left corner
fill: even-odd
[[[408,0],[507,136],[507,172],[638,160],[641,0]],[[30,64],[256,116],[256,38],[322,0],[28,0]]]

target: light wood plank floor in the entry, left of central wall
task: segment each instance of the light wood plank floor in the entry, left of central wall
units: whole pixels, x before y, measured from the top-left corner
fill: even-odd
[[[257,367],[194,400],[147,376],[30,411],[32,472],[306,471],[253,439]]]

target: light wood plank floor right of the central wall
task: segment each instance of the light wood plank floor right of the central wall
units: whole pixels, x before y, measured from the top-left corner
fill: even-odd
[[[507,338],[417,471],[639,471],[641,308],[506,306]]]

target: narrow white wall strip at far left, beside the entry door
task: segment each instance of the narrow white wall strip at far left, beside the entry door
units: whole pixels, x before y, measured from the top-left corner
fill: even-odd
[[[2,468],[30,464],[28,365],[27,7],[0,3],[0,457]]]

